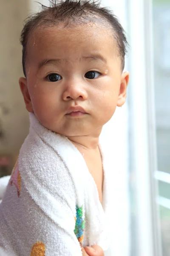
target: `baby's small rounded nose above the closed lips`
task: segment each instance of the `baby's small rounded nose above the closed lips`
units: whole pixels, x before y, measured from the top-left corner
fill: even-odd
[[[88,95],[86,90],[79,84],[68,84],[65,88],[64,93],[62,94],[62,99],[64,101],[69,101],[72,99],[80,99],[85,100],[87,99]]]

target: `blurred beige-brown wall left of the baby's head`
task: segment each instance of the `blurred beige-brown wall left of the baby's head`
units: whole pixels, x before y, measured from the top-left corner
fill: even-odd
[[[18,84],[23,76],[19,39],[26,16],[26,0],[0,1],[0,155],[16,156],[28,133],[28,115]]]

